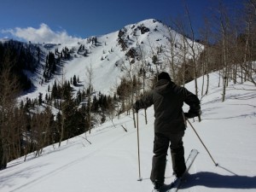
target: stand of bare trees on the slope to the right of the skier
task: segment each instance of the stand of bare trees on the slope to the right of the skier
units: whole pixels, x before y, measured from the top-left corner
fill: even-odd
[[[186,5],[183,17],[170,20],[169,26],[175,32],[170,30],[169,46],[163,49],[172,79],[177,84],[184,85],[195,79],[195,94],[204,96],[208,93],[208,74],[218,72],[221,77],[219,86],[223,87],[223,102],[230,81],[255,84],[256,1],[247,0],[240,4],[241,8],[234,6],[230,9],[223,1],[216,1],[216,7],[212,7],[201,28],[193,27]],[[182,41],[177,43],[175,38],[178,33],[182,34]],[[203,85],[199,88],[196,81],[202,75],[206,75],[203,79],[206,89]]]

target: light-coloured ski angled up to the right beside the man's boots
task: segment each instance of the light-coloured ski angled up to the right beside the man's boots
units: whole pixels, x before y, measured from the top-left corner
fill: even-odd
[[[188,159],[186,160],[186,171],[183,173],[183,176],[182,177],[179,177],[179,178],[175,178],[174,181],[170,184],[170,189],[167,190],[166,192],[177,192],[177,190],[179,189],[179,187],[181,186],[184,178],[186,177],[186,175],[188,175],[188,172],[189,172],[189,169],[190,167],[192,166],[194,160],[195,160],[195,157],[196,155],[198,154],[199,152],[196,150],[196,149],[192,149],[190,154],[189,154],[189,157]]]

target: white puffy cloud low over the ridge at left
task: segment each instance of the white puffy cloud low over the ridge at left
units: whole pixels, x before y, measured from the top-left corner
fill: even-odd
[[[42,23],[38,29],[33,27],[15,27],[15,29],[2,30],[2,32],[10,33],[16,38],[24,39],[27,42],[31,41],[32,43],[63,44],[81,40],[81,38],[69,36],[65,30],[54,32],[44,23]]]

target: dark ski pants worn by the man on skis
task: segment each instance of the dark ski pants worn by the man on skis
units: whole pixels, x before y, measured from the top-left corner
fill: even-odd
[[[153,183],[156,181],[164,183],[165,181],[166,155],[170,143],[173,172],[179,174],[185,171],[183,136],[184,131],[175,134],[154,133],[154,156],[150,176]]]

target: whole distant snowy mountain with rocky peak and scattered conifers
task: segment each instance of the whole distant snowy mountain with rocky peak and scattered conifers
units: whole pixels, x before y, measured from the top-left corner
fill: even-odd
[[[86,69],[90,65],[94,90],[106,94],[119,84],[121,77],[127,76],[128,71],[137,75],[143,70],[149,79],[160,70],[171,72],[171,57],[181,61],[184,55],[183,39],[159,20],[150,19],[72,44],[25,44],[40,61],[36,73],[26,73],[35,89],[25,92],[22,98],[46,93],[55,80],[61,82],[62,74],[67,80],[78,77],[79,85],[86,87]],[[186,42],[191,41],[186,38]],[[201,45],[198,47],[201,49]],[[200,50],[197,48],[197,51]],[[189,58],[189,54],[186,56]],[[52,57],[55,61],[50,60]]]

